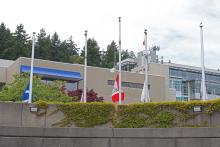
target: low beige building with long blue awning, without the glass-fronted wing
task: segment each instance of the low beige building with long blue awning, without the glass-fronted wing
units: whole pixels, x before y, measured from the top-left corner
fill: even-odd
[[[13,75],[30,71],[30,59],[18,58],[16,61],[0,60],[1,86],[13,80]],[[149,90],[152,101],[174,101],[175,91],[169,89],[168,66],[151,65],[149,74]],[[69,64],[35,59],[34,74],[39,74],[43,80],[60,79],[67,81],[69,90],[83,88],[83,70],[81,64]],[[55,72],[55,74],[54,74]],[[103,96],[105,101],[111,102],[116,73],[107,68],[89,66],[87,69],[88,89],[93,89]],[[61,73],[61,74],[60,74]],[[64,74],[63,74],[64,73]],[[66,74],[67,73],[67,74]],[[71,77],[71,74],[73,76]],[[75,77],[76,74],[77,76]],[[122,90],[125,93],[124,103],[139,102],[143,88],[144,74],[122,72]]]

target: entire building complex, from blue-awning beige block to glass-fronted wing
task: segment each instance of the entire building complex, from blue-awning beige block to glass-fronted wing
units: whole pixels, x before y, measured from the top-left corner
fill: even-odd
[[[154,59],[158,59],[158,57]],[[123,68],[125,71],[122,71],[122,90],[125,93],[124,103],[140,102],[145,69],[143,63],[137,62],[138,60],[138,58],[135,60],[127,59],[122,62],[123,67],[126,67]],[[187,101],[200,99],[200,67],[158,60],[151,60],[148,67],[148,88],[152,101]],[[80,64],[40,59],[35,59],[34,62],[35,75],[41,75],[45,83],[57,79],[65,80],[68,90],[83,88],[83,70],[84,65]],[[16,61],[0,60],[0,87],[5,83],[11,82],[13,75],[29,71],[29,58],[21,57]],[[108,102],[111,102],[111,94],[117,72],[111,71],[107,68],[92,66],[88,66],[87,69],[88,89],[93,89]],[[206,69],[205,73],[208,98],[220,98],[220,71]]]

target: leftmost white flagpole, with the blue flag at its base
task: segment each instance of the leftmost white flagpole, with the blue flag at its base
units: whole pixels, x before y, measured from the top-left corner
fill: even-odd
[[[28,103],[32,102],[32,85],[33,85],[33,70],[34,70],[34,45],[35,45],[35,32],[33,32],[33,38],[32,38],[30,91],[29,91]]]

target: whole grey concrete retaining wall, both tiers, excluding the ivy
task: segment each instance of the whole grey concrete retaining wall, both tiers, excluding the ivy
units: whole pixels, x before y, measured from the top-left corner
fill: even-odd
[[[52,128],[64,115],[50,105],[37,116],[24,103],[0,103],[0,147],[219,147],[220,116],[199,114],[189,123],[207,121],[216,128]]]

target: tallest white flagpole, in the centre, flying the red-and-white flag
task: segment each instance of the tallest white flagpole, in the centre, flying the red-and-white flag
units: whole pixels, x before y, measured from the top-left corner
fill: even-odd
[[[121,105],[121,17],[119,20],[119,105]]]

